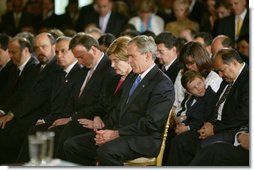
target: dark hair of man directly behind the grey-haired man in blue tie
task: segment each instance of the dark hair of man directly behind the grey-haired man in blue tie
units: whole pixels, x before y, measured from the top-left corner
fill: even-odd
[[[170,32],[161,32],[158,36],[155,37],[155,43],[163,43],[168,49],[176,47],[177,51],[179,50],[178,39]]]

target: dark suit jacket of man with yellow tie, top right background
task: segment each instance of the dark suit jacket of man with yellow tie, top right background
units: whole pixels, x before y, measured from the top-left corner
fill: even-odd
[[[226,35],[232,41],[235,41],[235,15],[230,15],[219,20],[217,31],[215,31],[215,36],[217,35]],[[246,16],[243,20],[243,24],[240,31],[240,36],[244,34],[249,34],[249,10],[247,10]]]

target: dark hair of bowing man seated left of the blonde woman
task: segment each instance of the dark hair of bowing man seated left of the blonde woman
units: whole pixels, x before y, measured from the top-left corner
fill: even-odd
[[[90,50],[92,46],[99,48],[98,41],[91,35],[86,33],[77,33],[70,42],[69,49],[75,48],[77,45],[84,46],[87,50]]]

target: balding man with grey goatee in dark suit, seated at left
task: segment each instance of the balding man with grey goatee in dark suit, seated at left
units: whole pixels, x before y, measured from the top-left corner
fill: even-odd
[[[35,124],[36,120],[41,118],[43,113],[48,110],[47,100],[50,99],[53,80],[55,74],[59,72],[59,67],[55,62],[55,39],[48,33],[41,33],[35,37],[34,49],[40,61],[36,65],[35,74],[28,78],[25,83],[30,87],[28,91],[20,91],[22,99],[17,101],[6,114],[0,118],[0,139],[1,155],[5,155],[4,162],[14,161],[20,150],[21,143],[28,129]],[[16,54],[15,50],[10,53]],[[22,71],[24,72],[24,70]],[[22,73],[21,72],[21,73]],[[22,74],[21,74],[22,76]],[[1,161],[1,162],[3,162]]]

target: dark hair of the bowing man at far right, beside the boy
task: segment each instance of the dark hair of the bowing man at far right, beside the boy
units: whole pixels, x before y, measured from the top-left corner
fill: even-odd
[[[239,53],[233,48],[223,48],[215,54],[215,58],[217,56],[221,57],[224,64],[229,64],[234,59],[236,61],[238,61],[239,63],[243,62],[243,60],[242,60],[241,56],[239,55]]]

